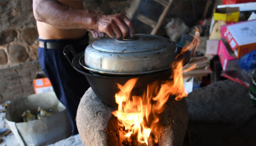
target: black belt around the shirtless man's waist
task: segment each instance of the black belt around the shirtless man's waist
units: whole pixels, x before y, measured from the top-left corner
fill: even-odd
[[[88,45],[88,38],[75,40],[73,43],[77,46]],[[40,41],[40,40],[38,42],[39,47],[47,48],[47,49],[64,49],[68,44],[70,44],[70,43],[44,42],[44,41]]]

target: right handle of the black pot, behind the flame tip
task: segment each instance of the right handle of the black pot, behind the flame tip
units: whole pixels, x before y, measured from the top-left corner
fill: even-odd
[[[192,56],[195,51],[195,47],[197,45],[197,39],[194,38],[193,36],[190,36],[189,34],[182,34],[180,41],[176,43],[176,46],[179,52],[182,51],[185,40],[188,40],[191,43],[193,43],[193,47],[191,49],[191,56]]]

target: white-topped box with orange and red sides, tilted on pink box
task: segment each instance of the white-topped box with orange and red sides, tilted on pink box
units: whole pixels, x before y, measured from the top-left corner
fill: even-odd
[[[225,38],[237,58],[256,48],[256,20],[221,26],[221,37]]]

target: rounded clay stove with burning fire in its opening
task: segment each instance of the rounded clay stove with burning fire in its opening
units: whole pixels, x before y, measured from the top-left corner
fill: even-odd
[[[111,112],[117,110],[103,103],[89,88],[83,95],[77,110],[77,128],[85,146],[128,146],[145,145],[133,137],[127,140],[118,127],[117,117]],[[165,110],[159,116],[159,141],[149,139],[148,145],[182,146],[188,123],[188,108],[185,99],[169,98]]]

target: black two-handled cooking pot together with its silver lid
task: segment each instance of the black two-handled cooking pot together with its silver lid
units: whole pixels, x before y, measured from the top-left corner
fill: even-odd
[[[178,55],[185,40],[192,42],[193,48]],[[183,65],[188,63],[196,43],[196,39],[187,34],[183,34],[177,44],[157,35],[136,34],[128,39],[99,39],[79,54],[67,45],[63,53],[70,64],[85,75],[97,97],[117,107],[117,83],[123,85],[129,79],[138,77],[132,92],[141,95],[149,83],[159,81],[160,86],[161,81],[172,80],[172,63],[182,59]]]

